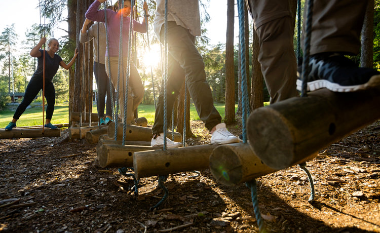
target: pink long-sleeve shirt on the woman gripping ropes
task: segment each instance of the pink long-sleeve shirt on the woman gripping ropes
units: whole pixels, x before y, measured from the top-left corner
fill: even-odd
[[[92,21],[105,22],[104,10],[98,10],[100,2],[95,0],[86,12],[86,18]],[[106,10],[107,15],[107,31],[108,31],[108,42],[109,48],[106,49],[105,56],[110,57],[119,56],[119,41],[120,41],[120,16],[121,12],[115,12],[112,10]],[[123,16],[122,16],[123,17]],[[129,41],[129,24],[130,17],[123,17],[123,57],[127,57],[128,54],[128,41]],[[145,22],[143,24],[132,21],[132,31],[137,31],[141,33],[146,32]],[[133,36],[133,34],[132,34]]]

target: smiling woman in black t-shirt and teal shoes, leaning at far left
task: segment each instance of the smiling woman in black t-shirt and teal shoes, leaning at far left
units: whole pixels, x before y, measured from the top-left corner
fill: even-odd
[[[44,87],[45,79],[45,98],[48,103],[46,107],[46,123],[45,127],[50,129],[57,129],[56,126],[50,123],[55,104],[55,89],[53,85],[53,77],[57,73],[59,66],[62,66],[65,69],[69,69],[72,64],[75,62],[75,58],[78,56],[77,49],[75,49],[74,56],[71,61],[66,64],[62,58],[56,54],[59,48],[59,43],[56,38],[50,38],[48,41],[48,49],[40,49],[46,43],[46,37],[42,37],[39,44],[37,44],[31,51],[30,56],[37,58],[37,69],[33,73],[28,86],[25,90],[25,95],[18,105],[15,114],[13,115],[12,122],[8,124],[5,130],[12,130],[16,127],[16,122],[20,118],[21,114],[25,111],[26,107],[33,101],[35,96],[42,90]],[[45,53],[45,54],[44,54]],[[44,67],[45,61],[45,67]],[[45,68],[45,74],[44,74]],[[45,77],[44,77],[45,76]]]

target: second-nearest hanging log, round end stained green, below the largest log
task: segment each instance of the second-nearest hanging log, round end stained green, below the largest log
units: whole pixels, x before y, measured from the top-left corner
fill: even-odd
[[[306,162],[317,154],[303,159]],[[217,182],[234,186],[277,171],[265,165],[248,143],[225,144],[216,147],[210,156],[210,170]]]

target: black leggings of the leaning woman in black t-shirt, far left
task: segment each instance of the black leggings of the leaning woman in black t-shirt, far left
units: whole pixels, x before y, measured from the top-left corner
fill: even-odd
[[[13,118],[18,120],[26,107],[33,101],[34,97],[43,89],[43,79],[41,77],[32,77],[25,90],[25,96],[20,105],[18,105]],[[51,120],[54,112],[55,89],[50,81],[45,81],[45,98],[48,103],[46,107],[46,119]]]

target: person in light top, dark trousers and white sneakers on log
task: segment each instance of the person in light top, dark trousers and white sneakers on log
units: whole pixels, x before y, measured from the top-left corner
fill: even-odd
[[[221,123],[219,112],[214,107],[211,89],[206,81],[205,64],[195,47],[195,37],[201,35],[201,21],[198,1],[168,1],[168,76],[167,76],[167,112],[172,108],[183,82],[186,79],[188,91],[194,101],[200,119],[211,133],[211,144],[239,142],[225,124]],[[154,29],[159,40],[164,44],[165,38],[165,0],[157,1]],[[157,147],[164,144],[164,87],[158,99],[153,139],[150,145]],[[180,147],[182,143],[166,139],[167,147]]]

